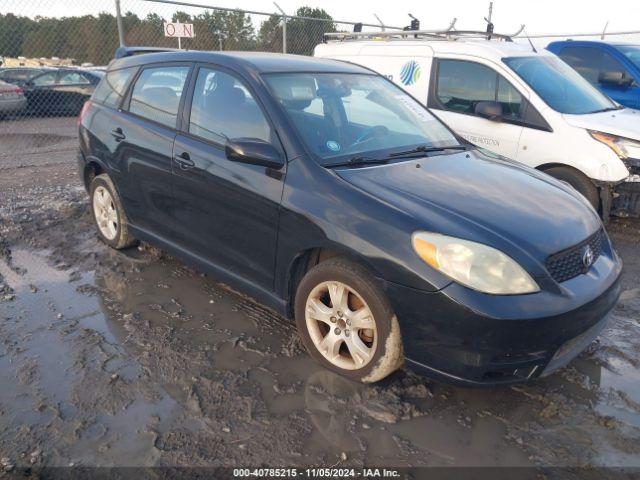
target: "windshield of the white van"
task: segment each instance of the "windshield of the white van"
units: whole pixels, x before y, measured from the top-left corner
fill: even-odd
[[[557,57],[510,57],[502,61],[557,112],[582,115],[617,108]]]

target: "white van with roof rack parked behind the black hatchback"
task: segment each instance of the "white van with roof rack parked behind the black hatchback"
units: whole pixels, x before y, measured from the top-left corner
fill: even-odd
[[[640,111],[546,50],[405,31],[328,34],[314,54],[386,76],[469,142],[571,184],[605,219],[640,214]]]

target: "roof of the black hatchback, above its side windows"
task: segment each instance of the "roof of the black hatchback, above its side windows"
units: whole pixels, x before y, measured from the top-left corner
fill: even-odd
[[[109,70],[151,63],[205,62],[256,73],[274,72],[330,72],[371,73],[371,70],[348,62],[319,59],[303,55],[266,52],[206,52],[187,50],[178,52],[145,53],[115,60]]]

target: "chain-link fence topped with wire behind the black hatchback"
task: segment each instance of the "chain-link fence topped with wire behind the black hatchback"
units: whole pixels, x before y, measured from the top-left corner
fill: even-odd
[[[121,13],[120,22],[117,11]],[[50,128],[75,135],[74,117],[104,75],[121,41],[126,45],[178,47],[178,39],[164,35],[165,22],[193,24],[195,37],[180,41],[186,49],[301,55],[311,55],[327,32],[382,28],[336,20],[324,10],[310,7],[266,13],[174,0],[3,0],[0,157],[10,150],[7,135],[18,135],[20,129],[29,127],[27,131],[38,135],[44,125],[53,125]],[[402,27],[386,26],[390,30]],[[615,38],[637,39],[632,33]],[[527,40],[521,35],[517,41]],[[57,120],[43,121],[52,118]],[[25,123],[32,119],[38,121]]]

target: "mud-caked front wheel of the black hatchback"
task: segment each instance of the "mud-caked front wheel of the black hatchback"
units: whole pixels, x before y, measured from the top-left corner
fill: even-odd
[[[295,298],[298,331],[311,357],[360,382],[377,382],[402,366],[398,320],[373,276],[334,257],[304,276]]]

